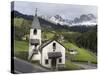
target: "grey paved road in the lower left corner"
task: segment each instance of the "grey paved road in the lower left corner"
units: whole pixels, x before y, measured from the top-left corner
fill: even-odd
[[[25,60],[14,57],[14,70],[15,73],[34,73],[34,72],[49,72],[39,65],[29,63]]]

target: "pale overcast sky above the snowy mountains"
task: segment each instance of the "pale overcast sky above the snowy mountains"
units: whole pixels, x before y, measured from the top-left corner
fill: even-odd
[[[13,8],[13,6],[12,6]],[[65,19],[74,19],[82,14],[94,14],[97,17],[97,7],[88,5],[73,5],[73,4],[55,4],[55,3],[39,3],[15,1],[14,10],[23,14],[34,15],[37,8],[37,14],[55,16],[60,15]]]

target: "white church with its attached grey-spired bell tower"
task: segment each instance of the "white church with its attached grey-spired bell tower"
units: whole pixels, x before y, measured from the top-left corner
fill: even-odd
[[[42,43],[41,26],[37,10],[32,21],[29,37],[28,60],[36,61],[46,68],[57,68],[65,64],[65,47],[57,40]]]

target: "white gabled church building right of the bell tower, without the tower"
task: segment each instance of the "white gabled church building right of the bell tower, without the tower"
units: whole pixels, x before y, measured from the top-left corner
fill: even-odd
[[[41,52],[41,65],[51,68],[64,66],[65,48],[56,40],[50,40],[39,48]]]

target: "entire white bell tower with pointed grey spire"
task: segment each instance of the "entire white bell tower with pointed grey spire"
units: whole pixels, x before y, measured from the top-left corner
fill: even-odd
[[[29,37],[29,60],[40,60],[39,46],[41,45],[41,26],[37,17],[37,8],[33,18]]]

